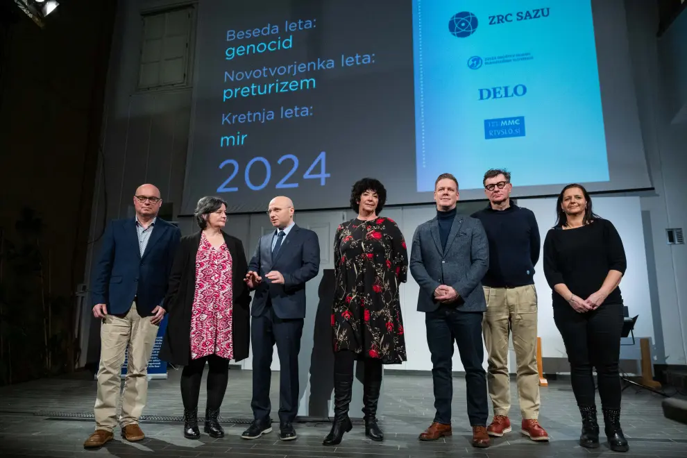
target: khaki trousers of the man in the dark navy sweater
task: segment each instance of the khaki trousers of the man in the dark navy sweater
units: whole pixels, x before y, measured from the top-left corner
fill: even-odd
[[[508,371],[508,337],[513,334],[518,397],[523,419],[539,415],[539,374],[536,365],[537,296],[534,285],[516,288],[484,287],[486,313],[482,322],[484,345],[489,353],[487,386],[494,415],[508,416],[511,385]]]

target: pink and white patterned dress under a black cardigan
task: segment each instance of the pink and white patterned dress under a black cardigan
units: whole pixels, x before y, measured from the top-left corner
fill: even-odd
[[[196,293],[191,312],[191,359],[213,353],[232,359],[232,267],[226,244],[213,248],[201,235],[196,254]]]

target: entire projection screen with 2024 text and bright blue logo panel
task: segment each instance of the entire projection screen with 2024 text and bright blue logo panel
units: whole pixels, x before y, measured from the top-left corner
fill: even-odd
[[[651,186],[622,0],[198,1],[181,214],[219,195],[262,212]]]

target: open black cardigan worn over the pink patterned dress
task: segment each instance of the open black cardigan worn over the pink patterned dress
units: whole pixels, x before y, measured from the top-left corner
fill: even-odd
[[[241,241],[225,232],[222,232],[222,235],[232,257],[234,361],[241,361],[248,357],[251,343],[251,296],[244,282],[248,273],[248,262]],[[167,296],[163,303],[169,316],[160,348],[160,359],[178,366],[187,366],[191,357],[191,312],[196,292],[196,254],[200,244],[200,231],[182,237],[174,257]]]

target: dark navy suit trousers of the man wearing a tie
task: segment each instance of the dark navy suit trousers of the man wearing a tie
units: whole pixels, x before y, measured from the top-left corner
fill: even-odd
[[[261,316],[253,316],[253,418],[269,418],[271,403],[272,353],[276,343],[279,356],[279,421],[292,423],[298,414],[298,353],[303,335],[303,319],[280,319],[271,306]]]

